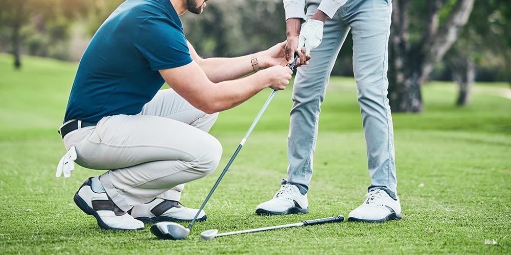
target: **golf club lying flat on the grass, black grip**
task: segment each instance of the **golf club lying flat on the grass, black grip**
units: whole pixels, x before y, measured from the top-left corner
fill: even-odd
[[[211,240],[215,237],[223,237],[223,236],[245,234],[245,233],[252,233],[252,232],[262,232],[262,231],[268,231],[268,230],[276,230],[277,228],[294,227],[294,226],[309,226],[309,225],[318,225],[318,224],[331,223],[331,222],[342,222],[342,221],[344,221],[344,216],[339,215],[339,216],[330,217],[330,218],[322,218],[322,219],[317,219],[317,220],[304,220],[304,221],[298,222],[298,223],[278,225],[278,226],[268,226],[268,227],[254,228],[252,230],[241,230],[241,231],[233,231],[233,232],[220,233],[220,234],[218,234],[218,230],[206,230],[206,231],[200,233],[200,238],[202,238],[202,240],[207,241],[207,240]]]

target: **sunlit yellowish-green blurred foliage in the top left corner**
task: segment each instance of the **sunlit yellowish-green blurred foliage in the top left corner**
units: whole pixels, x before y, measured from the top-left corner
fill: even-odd
[[[85,13],[87,0],[1,0],[0,42],[21,66],[21,50],[38,56],[65,59],[71,20]]]

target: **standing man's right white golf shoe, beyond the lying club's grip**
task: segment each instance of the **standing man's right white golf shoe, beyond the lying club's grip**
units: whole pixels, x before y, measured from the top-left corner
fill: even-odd
[[[399,198],[392,199],[384,190],[373,190],[366,194],[361,206],[348,215],[348,221],[384,222],[402,218]]]

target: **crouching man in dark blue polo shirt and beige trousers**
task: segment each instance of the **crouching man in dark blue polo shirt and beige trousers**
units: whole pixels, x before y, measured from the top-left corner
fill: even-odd
[[[197,210],[179,198],[184,183],[218,165],[222,147],[207,133],[217,112],[266,87],[289,84],[285,42],[257,55],[201,59],[184,37],[179,15],[200,14],[205,2],[127,0],[83,54],[59,129],[67,153],[57,177],[69,177],[74,161],[110,169],[87,179],[74,196],[102,228],[191,220]],[[160,90],[165,82],[172,89]]]

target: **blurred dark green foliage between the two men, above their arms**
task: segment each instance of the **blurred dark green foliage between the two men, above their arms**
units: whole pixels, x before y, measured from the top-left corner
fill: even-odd
[[[203,57],[234,57],[286,40],[282,0],[215,0],[200,15],[181,16],[185,35]]]

